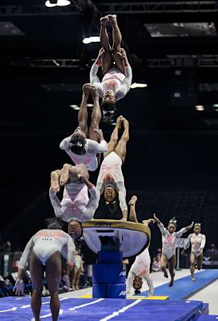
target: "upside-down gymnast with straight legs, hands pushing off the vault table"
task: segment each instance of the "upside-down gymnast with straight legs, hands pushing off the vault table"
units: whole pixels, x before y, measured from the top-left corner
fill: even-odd
[[[124,131],[119,140],[118,132],[123,123]],[[120,116],[117,118],[117,124],[110,136],[108,143],[108,152],[104,154],[104,161],[99,170],[97,179],[97,196],[104,193],[106,204],[113,206],[117,203],[117,195],[119,197],[119,206],[123,213],[123,220],[127,219],[128,206],[125,201],[125,185],[121,166],[125,161],[126,143],[129,140],[129,123],[128,120]]]

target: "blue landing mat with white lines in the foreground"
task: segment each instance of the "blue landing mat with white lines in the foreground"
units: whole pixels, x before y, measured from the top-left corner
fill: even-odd
[[[201,301],[62,298],[58,320],[189,321],[202,307]],[[0,299],[0,321],[25,321],[32,317],[30,298]],[[49,298],[43,298],[40,318],[51,321]]]

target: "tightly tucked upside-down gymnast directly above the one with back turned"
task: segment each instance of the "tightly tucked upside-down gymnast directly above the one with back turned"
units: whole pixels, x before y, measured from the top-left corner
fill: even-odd
[[[60,185],[64,186],[61,202],[56,195]],[[73,239],[80,239],[82,222],[93,219],[98,206],[97,192],[95,186],[88,181],[86,166],[64,164],[62,170],[53,171],[49,196],[56,217],[69,223],[69,233]]]

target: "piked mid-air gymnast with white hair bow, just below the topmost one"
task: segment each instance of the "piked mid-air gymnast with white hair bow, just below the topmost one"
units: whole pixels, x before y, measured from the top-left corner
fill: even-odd
[[[99,129],[101,109],[99,107],[97,89],[95,86],[85,84],[82,87],[82,91],[82,102],[78,113],[78,127],[71,136],[62,140],[60,148],[66,151],[75,164],[84,164],[88,170],[94,171],[98,167],[96,155],[107,151],[107,142],[104,140],[101,129]],[[87,100],[89,93],[93,96],[94,106],[88,129]]]

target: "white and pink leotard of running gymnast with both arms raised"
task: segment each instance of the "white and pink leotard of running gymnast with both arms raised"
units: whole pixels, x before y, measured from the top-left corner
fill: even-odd
[[[160,232],[162,234],[162,254],[167,256],[168,260],[175,254],[175,244],[178,239],[186,232],[186,228],[182,228],[178,232],[173,232],[172,234],[164,227],[162,223],[158,224]]]

